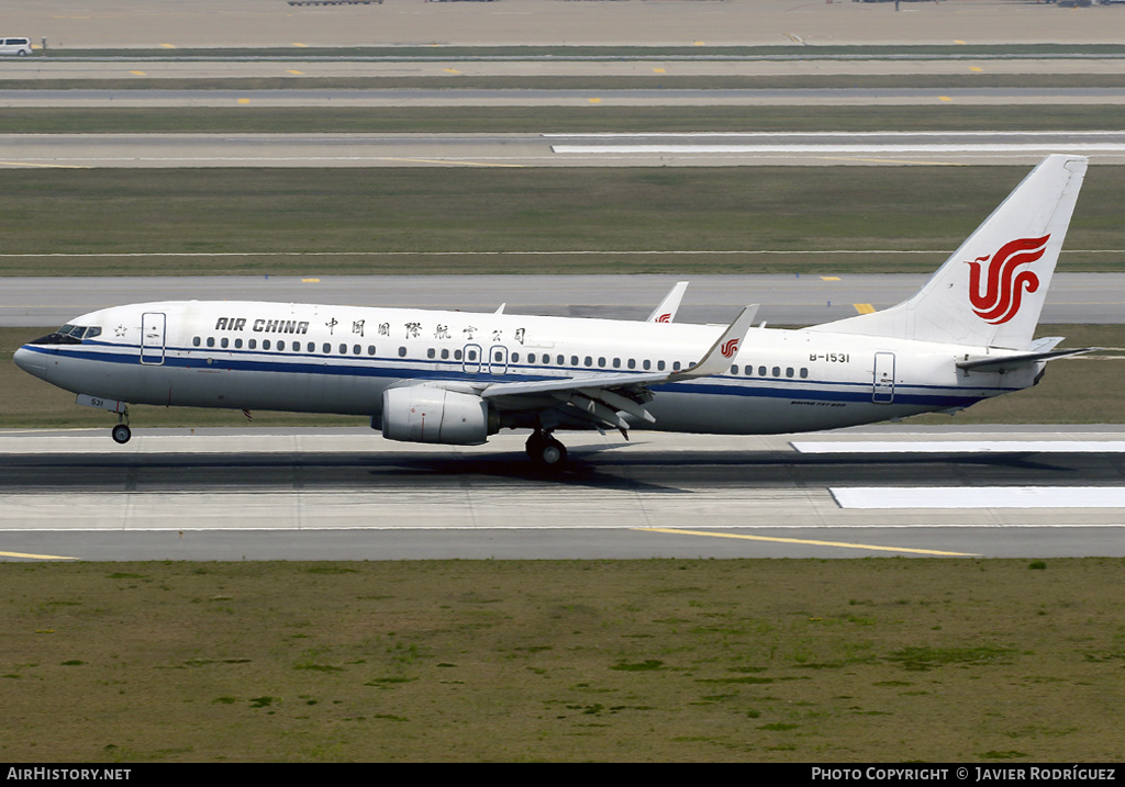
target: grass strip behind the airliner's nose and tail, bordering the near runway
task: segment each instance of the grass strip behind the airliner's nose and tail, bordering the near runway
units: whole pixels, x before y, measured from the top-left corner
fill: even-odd
[[[24,342],[51,328],[0,328],[0,428],[106,428],[109,413],[74,404],[74,395],[25,373],[11,361]],[[926,415],[910,424],[939,426],[965,424],[1125,424],[1125,398],[1106,391],[1125,389],[1125,364],[1114,358],[1125,347],[1125,325],[1051,325],[1042,335],[1064,335],[1065,346],[1115,347],[1105,353],[1053,361],[1043,381],[1028,390],[982,401],[956,416]],[[238,410],[183,407],[129,407],[134,427],[278,427],[364,426],[364,418],[288,413],[254,413],[249,424]]]

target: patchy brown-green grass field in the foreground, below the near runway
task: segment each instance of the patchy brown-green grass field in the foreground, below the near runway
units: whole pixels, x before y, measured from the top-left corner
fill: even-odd
[[[1125,562],[1045,562],[3,563],[0,754],[1118,761]]]

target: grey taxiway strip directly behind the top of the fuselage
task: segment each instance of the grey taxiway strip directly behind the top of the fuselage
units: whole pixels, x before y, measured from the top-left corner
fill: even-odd
[[[896,254],[899,252],[894,252]],[[753,255],[737,252],[735,255]],[[935,268],[946,253],[933,252]],[[1125,257],[1125,250],[1107,251]],[[2,259],[2,257],[0,257]],[[534,255],[528,255],[534,260]],[[1065,260],[1065,255],[1063,257]],[[315,257],[309,259],[315,264]],[[81,264],[81,257],[75,257]],[[676,319],[727,324],[747,304],[760,304],[770,325],[816,325],[867,307],[906,300],[928,274],[695,275]],[[387,277],[66,277],[9,278],[0,292],[0,326],[52,327],[79,315],[156,300],[267,300],[395,308],[495,311],[552,317],[645,319],[676,277],[630,275],[387,275]],[[1056,273],[1044,324],[1125,320],[1125,273]]]

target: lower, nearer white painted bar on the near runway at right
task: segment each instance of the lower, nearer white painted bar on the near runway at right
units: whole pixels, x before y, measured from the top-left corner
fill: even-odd
[[[840,508],[1125,508],[1125,487],[831,487],[829,491]]]

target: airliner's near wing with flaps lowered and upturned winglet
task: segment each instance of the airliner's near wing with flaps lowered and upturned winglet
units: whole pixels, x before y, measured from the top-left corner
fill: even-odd
[[[730,365],[730,359],[749,331],[757,309],[757,305],[744,308],[699,362],[681,371],[648,374],[583,373],[554,380],[497,382],[483,388],[480,396],[493,400],[503,409],[569,406],[573,409],[568,409],[568,414],[577,415],[598,428],[610,426],[626,434],[629,424],[619,415],[620,413],[650,424],[656,423],[652,414],[645,409],[645,404],[652,398],[650,387],[726,371]]]

